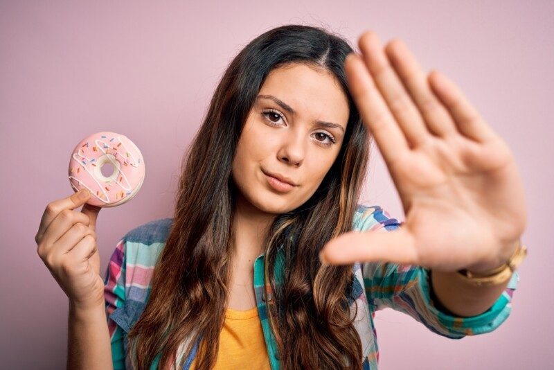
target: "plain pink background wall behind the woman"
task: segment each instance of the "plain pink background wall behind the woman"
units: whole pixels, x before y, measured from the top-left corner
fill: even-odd
[[[496,331],[449,340],[411,317],[377,313],[380,368],[544,369],[553,362],[554,32],[551,1],[190,1],[0,3],[0,358],[4,369],[61,369],[67,299],[36,252],[48,202],[71,195],[84,136],[120,132],[145,158],[141,192],[98,219],[102,274],[120,236],[169,217],[179,164],[217,80],[253,37],[323,25],[356,44],[400,37],[453,78],[506,139],[524,177],[529,256],[512,314]],[[377,149],[363,202],[402,219]]]

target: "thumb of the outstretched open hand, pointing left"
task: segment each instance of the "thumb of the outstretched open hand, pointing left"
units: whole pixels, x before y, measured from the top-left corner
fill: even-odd
[[[330,240],[321,250],[320,258],[332,265],[348,265],[359,261],[419,264],[413,237],[402,227],[386,233],[348,231]]]

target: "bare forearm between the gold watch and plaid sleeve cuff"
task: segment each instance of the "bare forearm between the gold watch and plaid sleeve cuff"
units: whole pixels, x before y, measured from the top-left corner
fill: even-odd
[[[437,308],[446,308],[447,313],[457,316],[470,317],[488,310],[506,289],[508,281],[478,287],[463,281],[456,272],[432,271],[430,285],[431,294],[438,300],[435,302]]]

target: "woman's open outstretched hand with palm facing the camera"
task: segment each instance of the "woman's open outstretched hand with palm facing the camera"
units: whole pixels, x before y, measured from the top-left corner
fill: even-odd
[[[331,264],[390,261],[454,272],[506,263],[526,228],[524,188],[510,148],[442,73],[428,76],[405,44],[375,33],[345,61],[349,89],[383,155],[406,220],[391,232],[349,231]]]

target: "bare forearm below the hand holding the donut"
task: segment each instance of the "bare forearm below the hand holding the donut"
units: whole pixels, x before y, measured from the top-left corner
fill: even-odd
[[[113,369],[105,307],[80,310],[69,304],[67,369]]]

